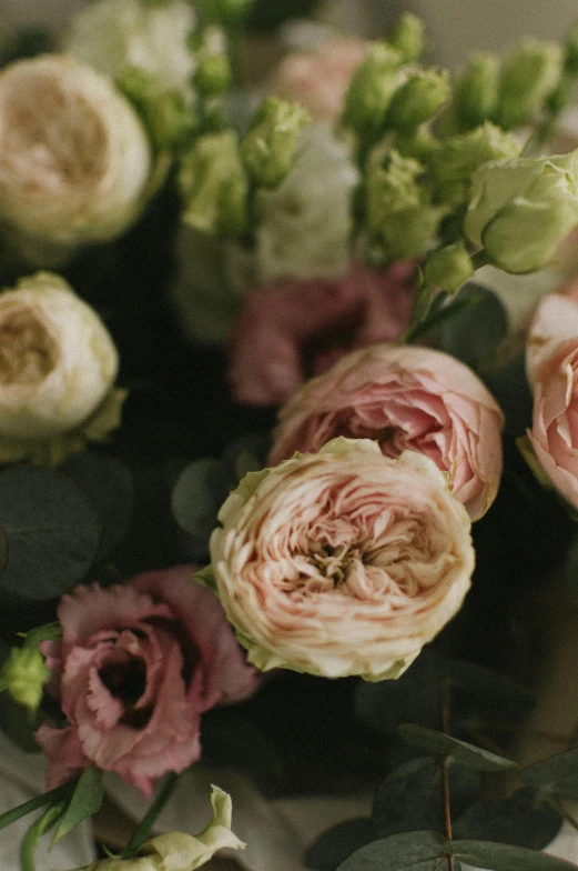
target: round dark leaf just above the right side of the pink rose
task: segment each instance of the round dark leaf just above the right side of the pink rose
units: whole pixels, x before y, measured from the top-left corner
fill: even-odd
[[[475,304],[466,306],[444,321],[439,330],[439,347],[468,366],[496,350],[508,334],[508,316],[498,297],[487,288],[469,282],[455,301],[473,298]]]

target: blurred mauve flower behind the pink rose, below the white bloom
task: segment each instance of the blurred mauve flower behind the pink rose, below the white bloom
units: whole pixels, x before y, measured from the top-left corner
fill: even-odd
[[[280,404],[352,348],[393,341],[409,322],[416,269],[355,264],[339,279],[286,280],[246,294],[229,381],[250,406]]]

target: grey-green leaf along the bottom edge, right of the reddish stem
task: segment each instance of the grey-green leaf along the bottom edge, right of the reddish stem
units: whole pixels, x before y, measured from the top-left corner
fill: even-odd
[[[576,871],[578,868],[546,853],[491,841],[446,841],[445,848],[462,862],[490,871]]]

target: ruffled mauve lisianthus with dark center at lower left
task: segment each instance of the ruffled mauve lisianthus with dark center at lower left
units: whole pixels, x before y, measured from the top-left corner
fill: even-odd
[[[254,670],[193,571],[180,565],[62,598],[63,639],[41,645],[69,723],[37,732],[49,789],[97,765],[150,795],[158,778],[199,759],[201,714],[253,691]]]

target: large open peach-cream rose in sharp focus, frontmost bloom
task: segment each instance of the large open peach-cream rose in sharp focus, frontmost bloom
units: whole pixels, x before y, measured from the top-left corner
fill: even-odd
[[[365,439],[250,473],[219,519],[217,594],[263,671],[398,678],[474,570],[469,518],[433,460]]]

